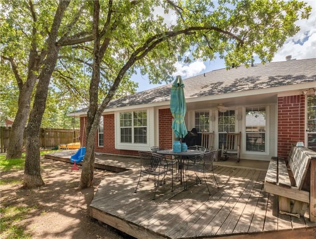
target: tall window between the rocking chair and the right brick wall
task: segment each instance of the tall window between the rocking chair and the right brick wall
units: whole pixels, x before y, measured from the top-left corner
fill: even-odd
[[[246,108],[246,151],[266,151],[266,107]]]

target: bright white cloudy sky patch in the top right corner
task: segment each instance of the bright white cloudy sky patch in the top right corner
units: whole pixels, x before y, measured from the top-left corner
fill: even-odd
[[[284,61],[287,55],[292,55],[292,59],[316,58],[316,1],[306,2],[312,6],[310,18],[296,22],[301,28],[300,31],[286,40],[276,52],[273,61]]]

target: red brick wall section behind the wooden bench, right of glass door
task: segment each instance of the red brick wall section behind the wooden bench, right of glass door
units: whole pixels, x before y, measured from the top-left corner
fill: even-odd
[[[277,98],[277,156],[287,158],[292,144],[304,142],[305,96]]]

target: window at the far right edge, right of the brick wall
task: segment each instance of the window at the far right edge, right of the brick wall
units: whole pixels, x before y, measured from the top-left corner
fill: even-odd
[[[316,96],[307,96],[307,147],[316,151]]]

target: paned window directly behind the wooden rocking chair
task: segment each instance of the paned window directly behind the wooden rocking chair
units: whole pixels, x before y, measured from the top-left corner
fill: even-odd
[[[235,132],[235,110],[227,110],[226,112],[218,111],[218,146],[225,145],[226,133]]]

